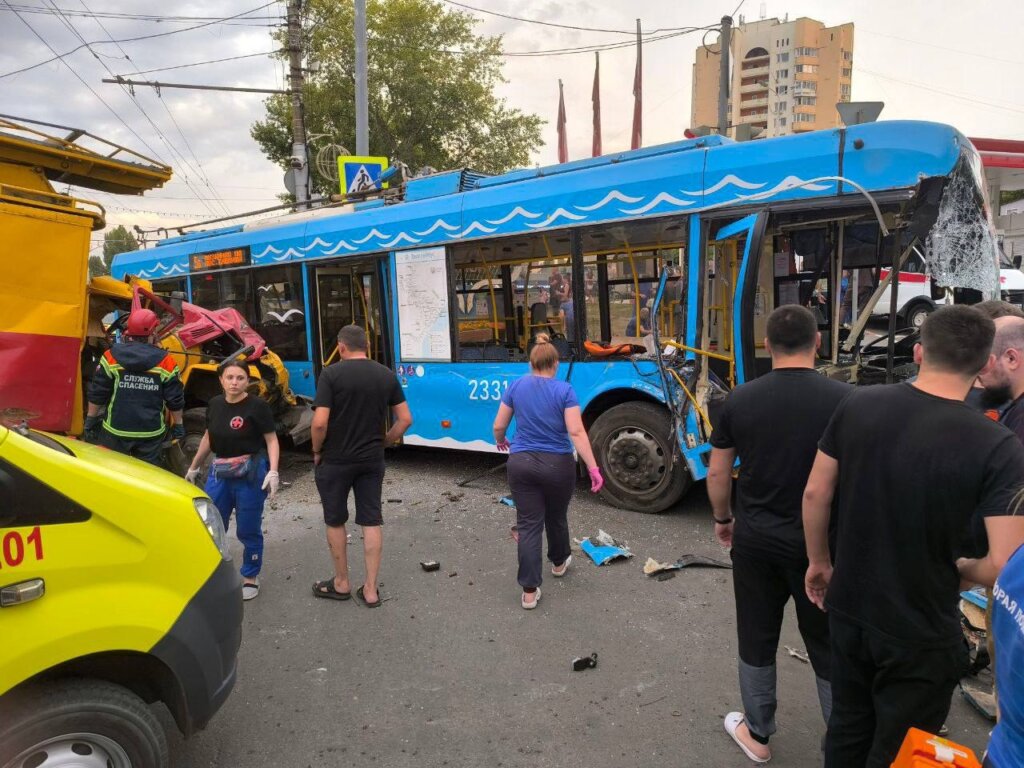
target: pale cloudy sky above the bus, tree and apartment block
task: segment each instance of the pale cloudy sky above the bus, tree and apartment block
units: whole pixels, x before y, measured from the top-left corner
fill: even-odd
[[[651,31],[714,25],[732,13],[737,2],[465,0],[463,5],[480,9],[466,11],[479,19],[480,33],[503,35],[506,51],[524,52],[629,40],[617,31],[635,29],[637,16]],[[562,29],[482,11],[604,31]],[[284,2],[262,0],[0,0],[0,112],[85,128],[174,167],[174,180],[144,198],[82,193],[108,208],[111,224],[166,226],[274,205],[283,189],[282,171],[249,137],[249,126],[263,114],[260,95],[170,89],[157,95],[137,88],[132,96],[101,80],[116,74],[283,88],[282,65],[261,54],[273,47],[269,35],[284,13]],[[826,25],[853,22],[854,100],[885,101],[883,119],[935,120],[968,135],[1024,139],[1020,0],[972,6],[959,0],[746,0],[739,14],[748,20],[788,14]],[[186,28],[198,29],[167,34]],[[83,45],[94,41],[100,42]],[[645,144],[680,138],[687,127],[691,65],[699,45],[697,33],[645,46]],[[67,63],[55,58],[76,48],[63,56]],[[247,54],[256,55],[162,69]],[[629,145],[634,56],[629,47],[601,53],[605,152]],[[54,60],[33,67],[47,59]],[[508,83],[501,95],[549,121],[547,143],[535,162],[555,161],[559,78],[565,85],[569,156],[589,155],[593,67],[594,54],[587,52],[506,57]],[[25,68],[31,69],[16,72]],[[161,71],[148,72],[157,69]]]

